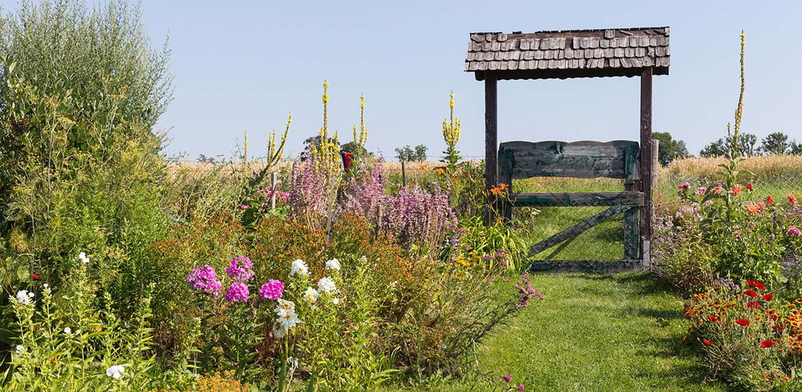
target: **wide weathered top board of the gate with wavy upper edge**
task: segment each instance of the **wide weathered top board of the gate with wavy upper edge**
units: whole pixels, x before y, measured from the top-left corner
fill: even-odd
[[[499,151],[512,160],[512,178],[573,177],[624,178],[627,147],[637,147],[629,140],[612,142],[561,141],[501,143]]]

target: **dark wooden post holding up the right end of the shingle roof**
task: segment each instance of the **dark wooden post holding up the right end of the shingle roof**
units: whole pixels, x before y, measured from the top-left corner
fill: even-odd
[[[641,74],[641,252],[644,264],[651,260],[651,220],[652,220],[652,149],[651,149],[651,95],[652,69],[646,68]]]

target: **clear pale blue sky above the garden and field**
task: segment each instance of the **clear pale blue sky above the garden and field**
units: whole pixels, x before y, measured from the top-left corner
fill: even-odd
[[[13,2],[3,2],[5,10]],[[496,4],[496,6],[493,6]],[[484,155],[484,87],[463,71],[468,34],[670,26],[670,75],[654,77],[654,131],[691,153],[727,133],[739,93],[739,34],[747,34],[742,131],[802,141],[802,2],[171,2],[143,0],[154,46],[169,31],[175,99],[159,122],[166,152],[230,156],[248,131],[250,155],[293,123],[286,155],[322,127],[351,139],[366,99],[367,147],[385,157],[423,143],[444,150],[453,90],[458,149]],[[637,78],[500,81],[499,139],[638,140]],[[758,141],[759,143],[759,141]]]

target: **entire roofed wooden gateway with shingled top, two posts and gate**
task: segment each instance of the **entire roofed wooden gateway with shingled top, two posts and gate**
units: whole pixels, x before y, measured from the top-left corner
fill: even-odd
[[[546,169],[546,175],[554,176],[554,172],[594,173],[592,167],[579,164],[579,160],[565,160],[573,152],[581,155],[595,149],[595,157],[599,162],[608,161],[611,165],[622,165],[621,172],[595,172],[591,176],[614,176],[625,179],[625,191],[618,195],[581,196],[563,195],[562,200],[581,201],[584,205],[608,205],[607,209],[596,216],[583,220],[580,224],[535,244],[531,252],[537,251],[561,238],[571,238],[597,221],[609,219],[611,216],[625,212],[625,259],[622,261],[560,261],[551,265],[553,270],[585,271],[585,272],[618,272],[626,269],[648,268],[650,264],[651,217],[652,217],[652,180],[651,172],[651,115],[652,115],[652,75],[668,75],[670,65],[669,27],[645,27],[607,30],[561,30],[539,31],[537,33],[512,34],[504,33],[472,33],[470,34],[468,54],[465,56],[465,71],[473,72],[476,80],[484,80],[484,156],[485,156],[485,188],[500,183],[500,180],[511,184],[512,178],[524,178],[532,173],[523,168],[527,159],[524,155],[536,156],[537,152],[552,156],[562,164]],[[641,121],[640,146],[634,142],[610,142],[602,147],[598,142],[511,142],[498,145],[497,135],[497,98],[496,82],[512,79],[567,79],[591,78],[606,76],[639,76],[641,78]],[[521,144],[529,143],[529,144]],[[584,144],[583,144],[584,143]],[[594,144],[598,143],[598,144]],[[549,150],[551,148],[551,150]],[[634,149],[633,149],[634,148]],[[604,153],[601,153],[604,150]],[[637,150],[635,152],[634,150]],[[629,152],[627,152],[629,151]],[[568,154],[566,154],[566,152]],[[508,156],[511,155],[512,160]],[[631,160],[639,156],[639,173],[627,174],[636,165]],[[529,160],[531,161],[531,160]],[[573,164],[572,164],[573,162]],[[615,164],[614,164],[615,162]],[[499,168],[503,178],[499,176]],[[519,168],[516,172],[516,167]],[[612,169],[611,169],[612,170]],[[535,174],[536,176],[540,176]],[[574,175],[569,175],[574,176]],[[616,193],[616,192],[613,192]],[[517,195],[515,205],[559,205],[560,197],[543,194]],[[568,199],[565,199],[565,198]],[[642,197],[642,202],[640,201]],[[548,199],[548,200],[547,200]],[[496,203],[495,196],[488,192],[488,205]],[[563,201],[565,202],[565,201]],[[576,206],[577,204],[572,204]],[[638,206],[635,216],[633,206]],[[488,208],[488,211],[490,209]],[[614,214],[614,215],[611,215]],[[488,220],[495,219],[488,212]],[[634,231],[634,221],[638,220],[638,231]],[[639,238],[638,238],[639,237]],[[637,251],[634,243],[637,242]],[[544,248],[545,249],[545,248]],[[630,258],[631,257],[631,258]],[[543,261],[538,261],[543,264]]]

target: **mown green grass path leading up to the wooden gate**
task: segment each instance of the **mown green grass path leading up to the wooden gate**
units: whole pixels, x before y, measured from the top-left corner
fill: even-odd
[[[512,374],[527,391],[726,390],[701,382],[693,344],[680,343],[687,329],[682,300],[649,274],[537,275],[532,285],[546,299],[477,350],[480,370]],[[492,390],[431,380],[421,389]]]

